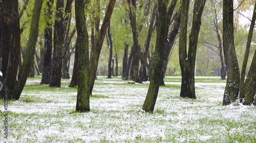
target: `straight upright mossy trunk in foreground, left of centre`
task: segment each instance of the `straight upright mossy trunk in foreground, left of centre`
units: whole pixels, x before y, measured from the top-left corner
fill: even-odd
[[[89,88],[89,35],[86,27],[85,16],[86,2],[75,0],[75,15],[77,27],[78,49],[78,88],[76,111],[90,111],[90,88]]]

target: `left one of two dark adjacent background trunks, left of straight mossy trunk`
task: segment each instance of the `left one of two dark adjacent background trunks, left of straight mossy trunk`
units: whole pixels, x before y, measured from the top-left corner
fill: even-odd
[[[45,27],[45,54],[44,66],[42,70],[42,79],[40,84],[49,84],[51,79],[51,61],[52,61],[52,6],[54,0],[47,1],[46,27]]]

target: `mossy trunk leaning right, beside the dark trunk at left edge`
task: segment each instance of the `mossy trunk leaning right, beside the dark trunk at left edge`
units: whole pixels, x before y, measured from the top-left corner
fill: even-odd
[[[24,59],[23,65],[22,65],[22,70],[18,74],[16,95],[14,97],[14,99],[16,99],[16,100],[18,100],[20,97],[20,94],[22,94],[22,91],[25,87],[25,84],[26,84],[26,81],[28,78],[29,69],[33,64],[34,55],[35,55],[35,45],[36,45],[37,37],[38,37],[38,26],[39,26],[39,19],[40,19],[40,14],[41,14],[42,3],[43,3],[43,0],[38,0],[38,1],[34,2],[34,8],[33,8],[26,56],[25,56],[25,59]]]

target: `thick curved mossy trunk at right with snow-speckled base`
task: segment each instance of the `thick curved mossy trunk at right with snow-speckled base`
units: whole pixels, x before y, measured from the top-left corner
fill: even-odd
[[[227,63],[227,83],[223,104],[228,105],[238,98],[240,73],[236,49],[234,48],[233,1],[223,1],[223,51]]]

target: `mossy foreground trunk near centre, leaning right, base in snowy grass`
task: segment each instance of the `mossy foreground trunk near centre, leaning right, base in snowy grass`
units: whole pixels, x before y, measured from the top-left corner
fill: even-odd
[[[152,74],[150,87],[148,87],[146,99],[142,106],[142,109],[146,112],[153,112],[157,100],[159,84],[160,84],[160,74],[163,68],[163,60],[165,48],[163,47],[165,43],[165,33],[167,24],[167,1],[158,0],[158,11],[159,11],[159,23],[157,26],[157,40],[155,53],[152,63]]]

